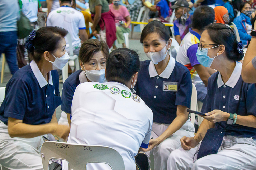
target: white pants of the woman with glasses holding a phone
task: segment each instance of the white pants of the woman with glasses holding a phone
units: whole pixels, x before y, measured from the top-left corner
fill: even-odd
[[[224,136],[217,154],[198,160],[200,144],[186,151],[179,148],[171,153],[167,161],[168,170],[255,170],[256,142],[252,138]],[[196,154],[195,154],[196,153]],[[195,155],[195,163],[193,157]]]

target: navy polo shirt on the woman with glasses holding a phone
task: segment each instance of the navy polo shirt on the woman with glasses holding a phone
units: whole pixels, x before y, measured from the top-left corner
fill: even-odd
[[[236,62],[234,71],[228,81],[224,84],[219,72],[214,73],[208,79],[205,108],[202,112],[207,113],[213,110],[221,110],[237,115],[256,116],[256,86],[255,84],[243,83],[241,77],[242,63]],[[242,95],[240,90],[242,86]],[[237,105],[240,98],[240,105]],[[229,125],[226,121],[215,123],[216,128],[226,128],[225,135],[256,138],[256,128],[246,127],[239,124]]]

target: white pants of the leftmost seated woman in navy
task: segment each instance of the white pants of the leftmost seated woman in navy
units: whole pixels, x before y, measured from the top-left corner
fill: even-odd
[[[10,170],[43,170],[42,136],[11,138],[8,126],[0,121],[0,164]]]

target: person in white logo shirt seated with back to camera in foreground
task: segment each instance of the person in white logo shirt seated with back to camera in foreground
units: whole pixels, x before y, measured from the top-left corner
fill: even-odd
[[[114,148],[126,170],[135,170],[135,156],[147,148],[153,122],[150,108],[132,94],[140,68],[138,54],[119,48],[109,54],[108,82],[87,82],[77,86],[72,101],[68,143],[103,145]],[[130,90],[132,89],[132,91]],[[68,169],[67,162],[62,169]],[[87,164],[90,170],[111,169],[107,164]]]

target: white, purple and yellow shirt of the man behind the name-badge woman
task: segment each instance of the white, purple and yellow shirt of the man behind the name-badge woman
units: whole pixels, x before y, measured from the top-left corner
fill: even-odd
[[[197,43],[200,42],[200,38],[201,36],[190,28],[189,33],[187,33],[181,41],[179,52],[176,56],[176,61],[186,66],[190,71],[193,84],[203,83],[196,69],[193,67],[196,64],[200,64],[196,56],[198,48]]]

